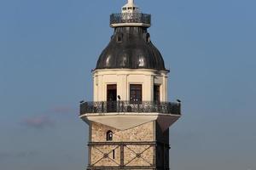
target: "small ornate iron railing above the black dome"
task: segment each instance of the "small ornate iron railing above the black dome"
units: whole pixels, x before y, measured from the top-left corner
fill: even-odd
[[[120,23],[143,23],[151,25],[151,15],[143,13],[119,13],[110,15],[110,25]]]

